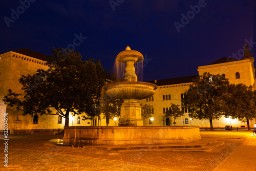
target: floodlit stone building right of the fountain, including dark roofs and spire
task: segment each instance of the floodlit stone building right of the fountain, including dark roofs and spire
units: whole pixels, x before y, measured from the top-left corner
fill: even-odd
[[[254,86],[255,84],[255,69],[253,66],[254,58],[251,56],[249,48],[246,44],[244,56],[241,60],[222,57],[215,62],[206,66],[198,67],[198,73],[202,75],[205,72],[211,74],[220,74],[228,78],[230,83],[243,83],[246,86]],[[153,97],[140,100],[142,104],[151,104],[154,106],[154,120],[147,118],[145,125],[174,125],[172,117],[164,117],[166,110],[170,107],[170,103],[179,104],[181,106],[181,98],[183,93],[189,89],[196,76],[188,76],[181,78],[170,78],[150,81],[158,86]],[[176,125],[197,125],[200,127],[210,127],[209,120],[190,120],[188,111],[185,111],[185,116],[176,120]],[[225,127],[232,125],[233,127],[246,127],[246,122],[240,122],[237,119],[222,117],[219,120],[212,120],[214,127]],[[250,121],[250,126],[256,124],[255,119]]]

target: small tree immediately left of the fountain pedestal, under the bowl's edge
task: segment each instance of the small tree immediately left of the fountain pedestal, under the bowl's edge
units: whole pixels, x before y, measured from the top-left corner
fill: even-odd
[[[106,125],[110,123],[110,119],[120,116],[120,109],[123,100],[114,98],[104,98],[100,104],[100,112],[103,113],[103,117],[106,118]]]

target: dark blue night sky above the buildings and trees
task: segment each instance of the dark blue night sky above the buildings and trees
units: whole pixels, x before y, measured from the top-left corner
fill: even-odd
[[[83,60],[100,59],[113,71],[117,54],[130,46],[147,58],[143,81],[197,75],[198,66],[241,52],[245,39],[256,56],[255,6],[253,0],[2,1],[0,53],[27,48],[51,55],[52,47],[75,44]]]

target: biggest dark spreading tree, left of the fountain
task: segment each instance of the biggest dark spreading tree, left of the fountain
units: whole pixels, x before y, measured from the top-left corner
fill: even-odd
[[[19,83],[23,94],[9,90],[3,101],[16,106],[23,115],[59,115],[69,126],[69,114],[97,116],[93,109],[100,103],[101,87],[114,77],[105,71],[100,60],[82,61],[82,56],[72,49],[53,49],[47,65],[49,70],[39,69],[34,75],[22,75]]]

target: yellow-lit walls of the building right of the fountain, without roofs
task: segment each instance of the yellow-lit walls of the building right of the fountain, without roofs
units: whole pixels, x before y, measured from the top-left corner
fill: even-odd
[[[240,61],[229,61],[225,63],[218,63],[215,65],[208,65],[198,67],[198,72],[202,75],[204,72],[209,72],[211,74],[225,74],[225,77],[229,79],[230,83],[238,84],[244,83],[246,86],[254,85],[254,72],[253,58],[243,59]],[[236,79],[236,73],[240,73],[240,79]],[[169,108],[170,103],[175,103],[180,105],[181,109],[181,94],[189,89],[190,83],[183,84],[171,84],[165,86],[159,86],[156,90],[154,101],[146,101],[146,99],[140,100],[139,103],[151,104],[154,107],[154,114],[152,114],[154,120],[150,124],[149,119],[145,119],[145,125],[166,125],[166,118],[164,117],[163,108]],[[170,95],[170,100],[163,100],[163,95]],[[185,119],[188,119],[188,124],[185,123]],[[170,125],[174,125],[174,118],[169,117]],[[198,120],[193,119],[190,121],[188,113],[184,113],[184,116],[176,120],[176,125],[195,125],[200,127],[210,127],[209,120]],[[214,127],[225,127],[226,125],[232,125],[233,127],[247,127],[246,122],[238,121],[237,119],[230,119],[221,117],[219,120],[213,120],[212,124]],[[256,124],[255,119],[250,121],[250,126],[252,127]]]

